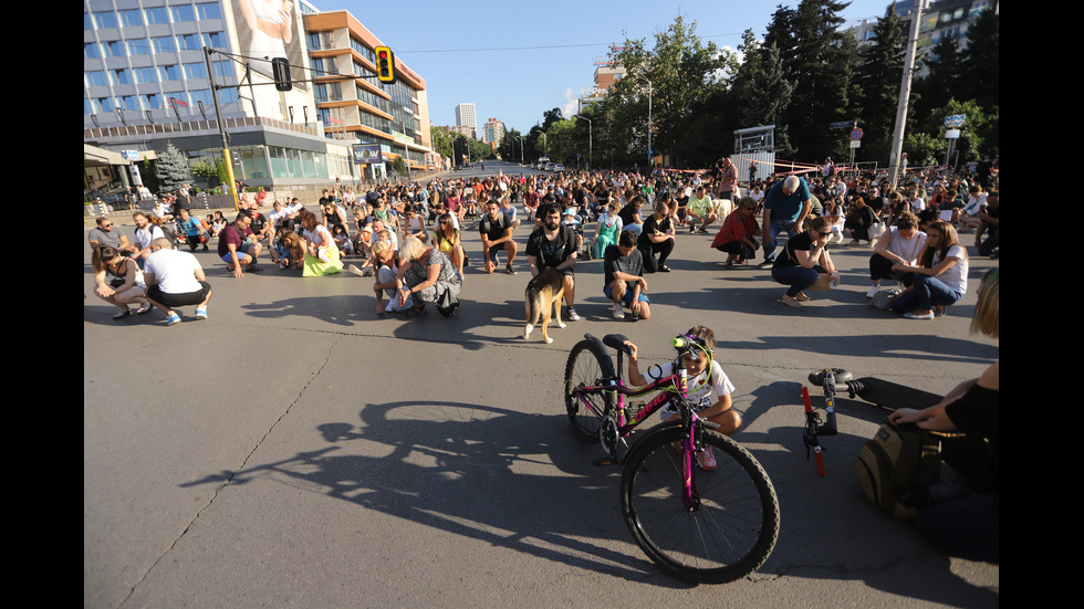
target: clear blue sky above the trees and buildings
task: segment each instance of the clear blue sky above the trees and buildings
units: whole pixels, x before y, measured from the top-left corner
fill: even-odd
[[[321,11],[346,10],[425,78],[432,125],[455,125],[455,107],[473,103],[478,129],[490,117],[527,133],[542,114],[576,112],[611,44],[645,39],[681,14],[707,43],[736,49],[747,29],[761,38],[781,0],[478,0],[372,2],[310,0]],[[882,17],[890,0],[853,0],[847,25]]]

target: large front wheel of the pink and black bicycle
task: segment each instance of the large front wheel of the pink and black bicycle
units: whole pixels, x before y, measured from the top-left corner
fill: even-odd
[[[621,481],[625,524],[663,570],[697,584],[725,584],[757,570],[779,536],[779,500],[753,455],[726,435],[703,431],[718,468],[692,471],[692,506],[684,502],[680,428],[645,438]]]

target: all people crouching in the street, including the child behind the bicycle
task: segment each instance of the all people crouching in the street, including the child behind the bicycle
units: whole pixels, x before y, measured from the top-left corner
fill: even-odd
[[[893,282],[897,287],[889,308],[911,319],[935,319],[968,292],[969,253],[960,235],[974,235],[977,255],[999,255],[998,171],[996,159],[984,159],[956,172],[914,170],[896,187],[845,174],[831,161],[804,175],[759,179],[749,171],[746,182],[738,180],[739,168],[730,158],[707,171],[500,172],[383,185],[356,193],[336,187],[322,192],[317,211],[296,198],[272,201],[264,196],[232,220],[220,212],[201,220],[184,198],[174,198],[150,213],[136,211],[131,241],[110,218],[100,218],[87,239],[94,294],[116,307],[114,317],[157,308],[168,325],[180,322],[175,311],[180,306],[196,306],[196,318],[207,318],[211,287],[194,253],[200,246],[208,250],[212,239],[234,277],[261,272],[264,253],[280,271],[301,271],[305,277],[344,269],[372,277],[378,316],[415,317],[430,306],[445,316],[457,315],[465,272],[477,254],[484,274],[503,266],[515,275],[523,259],[532,277],[555,271],[563,284],[564,318],[576,321],[576,263],[596,258],[603,261],[597,288],[612,303],[613,317],[624,319],[627,312],[634,321],[649,319],[647,275],[671,272],[668,260],[686,246],[680,232],[709,229],[716,232],[710,248],[727,254],[720,259],[722,269],[770,270],[771,279],[785,286],[780,302],[789,306],[804,306],[806,291],[838,285],[832,246],[858,246],[872,250],[867,298],[876,298]],[[261,208],[268,204],[264,216]],[[462,231],[471,230],[481,242],[478,252],[468,252],[462,239]],[[361,266],[347,264],[347,259]],[[973,327],[997,338],[997,269],[980,288]],[[711,359],[713,333],[697,326],[689,330],[694,335],[703,350],[695,371],[705,375],[705,387],[716,395],[710,399],[710,391],[705,393],[701,413],[725,433],[734,433],[741,418],[731,408],[732,385],[717,365],[703,365]],[[635,345],[628,346],[629,380],[644,384]],[[974,430],[992,438],[997,450],[997,395],[994,364],[940,405],[904,409],[893,419],[930,429]],[[710,454],[698,454],[698,460],[706,470],[715,466]],[[997,486],[986,489],[931,510],[921,521],[923,533],[951,552],[963,548],[982,558],[992,552],[996,557],[997,493]],[[965,531],[968,523],[973,532]]]

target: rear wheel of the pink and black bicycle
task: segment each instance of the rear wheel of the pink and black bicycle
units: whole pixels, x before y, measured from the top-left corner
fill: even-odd
[[[614,361],[598,340],[581,340],[569,354],[569,363],[564,367],[564,407],[572,429],[584,442],[598,441],[598,429],[603,417],[614,407],[614,395],[598,391],[576,396],[573,389],[597,386],[603,379],[614,376]],[[583,403],[581,398],[591,406]]]

